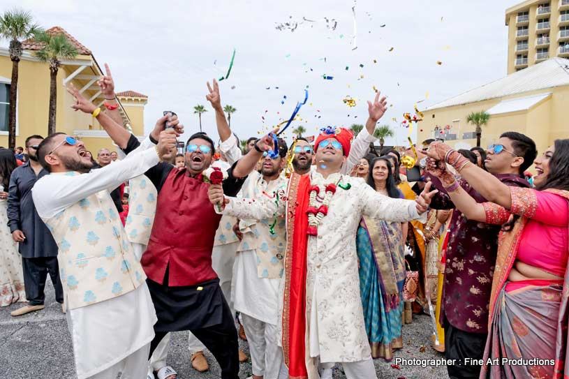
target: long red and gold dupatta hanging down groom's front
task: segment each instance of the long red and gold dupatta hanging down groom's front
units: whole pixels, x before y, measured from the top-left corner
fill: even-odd
[[[283,353],[290,379],[306,379],[306,249],[310,175],[293,174],[288,187],[284,260]]]

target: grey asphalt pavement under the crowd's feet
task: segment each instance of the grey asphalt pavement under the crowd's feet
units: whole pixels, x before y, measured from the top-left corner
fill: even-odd
[[[22,303],[0,308],[0,378],[72,379],[75,376],[73,348],[61,306],[55,302],[53,287],[46,284],[45,309],[18,318],[10,312]],[[443,356],[429,345],[431,323],[427,315],[414,315],[413,323],[403,328],[404,348],[395,352],[392,362],[376,359],[379,379],[446,379],[445,366],[417,366],[399,363],[395,359],[441,359]],[[247,343],[239,345],[249,355]],[[178,372],[179,379],[220,378],[221,371],[209,352],[210,369],[198,373],[190,364],[188,332],[176,332],[170,341],[168,364]],[[251,359],[241,364],[239,378],[251,376]],[[340,365],[334,368],[334,379],[346,378]],[[144,378],[141,378],[144,379]]]

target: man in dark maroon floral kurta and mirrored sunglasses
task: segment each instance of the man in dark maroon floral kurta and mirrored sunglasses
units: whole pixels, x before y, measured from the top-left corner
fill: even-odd
[[[498,142],[504,144],[506,150],[500,154],[489,151],[489,172],[508,186],[529,187],[523,172],[537,154],[533,140],[512,132],[504,133]],[[523,163],[517,165],[520,158]],[[439,190],[431,207],[454,209],[441,182],[432,176],[431,180]],[[460,184],[477,202],[487,201],[466,181]],[[500,226],[469,221],[459,209],[452,214],[440,318],[445,328],[445,357],[457,359],[456,365],[447,366],[450,378],[478,378],[480,375],[480,366],[462,363],[465,358],[482,359],[500,230]]]

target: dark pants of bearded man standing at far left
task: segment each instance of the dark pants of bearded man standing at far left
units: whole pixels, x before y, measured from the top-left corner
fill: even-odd
[[[29,305],[43,305],[45,300],[43,290],[48,272],[55,288],[55,299],[58,303],[64,302],[64,290],[61,288],[57,257],[22,258],[22,269]]]

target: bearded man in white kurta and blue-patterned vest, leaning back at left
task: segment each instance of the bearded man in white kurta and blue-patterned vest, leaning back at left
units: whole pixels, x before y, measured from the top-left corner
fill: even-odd
[[[75,109],[101,125],[115,124],[75,89],[71,92],[78,96]],[[38,159],[50,174],[36,183],[32,196],[59,248],[79,379],[146,375],[156,314],[109,191],[172,154],[176,136],[174,129],[163,131],[157,145],[147,139],[123,161],[91,172],[87,149],[71,136],[55,133],[38,147]]]

